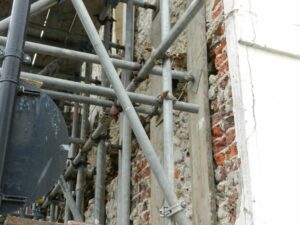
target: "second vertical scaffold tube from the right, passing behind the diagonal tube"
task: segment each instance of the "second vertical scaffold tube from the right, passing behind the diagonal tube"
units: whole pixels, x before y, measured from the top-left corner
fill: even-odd
[[[125,36],[125,60],[133,61],[133,34],[134,34],[134,6],[133,0],[127,0],[126,13],[124,16],[126,22],[124,29]],[[122,82],[124,87],[130,83],[131,71],[124,70],[122,74]],[[131,136],[132,131],[130,128],[130,123],[123,114],[123,124],[122,124],[122,151],[119,151],[121,156],[121,170],[119,174],[118,190],[120,197],[118,200],[119,213],[118,224],[119,225],[129,225],[129,215],[130,215],[130,178],[131,178]]]

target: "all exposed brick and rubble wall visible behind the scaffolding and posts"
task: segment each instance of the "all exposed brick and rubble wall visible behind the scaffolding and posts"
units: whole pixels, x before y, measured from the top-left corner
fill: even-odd
[[[174,24],[185,10],[185,2],[172,1],[171,21]],[[216,203],[219,225],[235,224],[239,208],[239,167],[240,159],[235,142],[234,116],[232,111],[232,93],[227,60],[226,38],[224,34],[224,15],[221,0],[209,0],[206,7],[207,45],[209,60],[209,99],[211,109],[212,146],[215,161]],[[135,58],[137,61],[149,57],[151,49],[152,11],[137,9],[135,33]],[[176,69],[186,68],[186,35],[180,36],[172,47],[172,53],[183,57],[173,62]],[[184,62],[184,63],[182,63]],[[178,84],[176,97],[186,101],[186,86]],[[142,83],[138,92],[149,94],[149,80]],[[182,200],[191,201],[191,174],[189,155],[189,117],[187,113],[174,113],[174,156],[176,194]],[[117,127],[117,124],[115,126]],[[117,143],[118,133],[113,134]],[[114,138],[112,138],[114,140]],[[115,142],[112,141],[112,142]],[[136,145],[135,145],[136,146]],[[133,225],[150,225],[150,167],[141,149],[134,147],[132,155],[131,178],[131,215]],[[117,178],[107,186],[107,223],[116,224],[116,188]],[[186,210],[192,218],[191,205]]]

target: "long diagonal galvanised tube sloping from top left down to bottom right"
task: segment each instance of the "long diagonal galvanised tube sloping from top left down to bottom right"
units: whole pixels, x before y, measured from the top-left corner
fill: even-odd
[[[174,206],[178,204],[178,198],[175,192],[170,191],[171,185],[167,180],[167,175],[164,171],[164,168],[160,164],[159,158],[157,157],[155,150],[145,132],[139,117],[134,110],[134,107],[126,93],[125,88],[120,81],[117,71],[115,70],[108,53],[105,50],[105,47],[101,43],[98,37],[98,32],[91,20],[88,11],[83,4],[82,0],[71,0],[74,8],[78,14],[78,17],[83,24],[84,29],[86,30],[87,35],[90,38],[92,45],[94,46],[95,52],[99,56],[100,61],[102,62],[102,67],[106,72],[107,78],[109,79],[110,83],[112,84],[113,89],[117,95],[117,98],[126,114],[131,128],[135,133],[135,136],[150,164],[152,172],[156,177],[158,184],[160,185],[165,198],[170,206]],[[188,225],[188,219],[185,215],[185,212],[180,211],[175,214],[175,220],[178,225]]]

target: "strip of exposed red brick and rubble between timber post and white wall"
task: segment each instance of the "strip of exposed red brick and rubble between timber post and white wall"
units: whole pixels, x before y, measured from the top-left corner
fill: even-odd
[[[225,38],[223,2],[207,2],[209,99],[212,146],[216,164],[218,224],[235,224],[239,204],[240,159],[235,141],[232,92]]]

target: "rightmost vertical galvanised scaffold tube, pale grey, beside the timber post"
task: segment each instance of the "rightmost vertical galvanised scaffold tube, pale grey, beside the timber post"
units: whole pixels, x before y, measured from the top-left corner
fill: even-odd
[[[170,32],[170,4],[169,0],[160,1],[161,15],[161,40],[164,41]],[[168,96],[173,96],[172,75],[171,75],[171,60],[165,58],[163,60],[163,93],[168,93]],[[164,135],[164,167],[168,176],[168,181],[171,184],[170,191],[175,191],[174,188],[174,153],[173,153],[173,101],[169,98],[163,100],[163,135]],[[164,225],[173,225],[172,217],[165,217]]]

